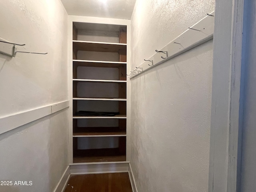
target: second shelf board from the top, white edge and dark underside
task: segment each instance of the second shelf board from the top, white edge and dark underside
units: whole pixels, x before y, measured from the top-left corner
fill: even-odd
[[[85,67],[108,67],[117,68],[126,65],[127,62],[112,62],[112,61],[92,61],[92,60],[73,60],[74,66],[85,66]]]

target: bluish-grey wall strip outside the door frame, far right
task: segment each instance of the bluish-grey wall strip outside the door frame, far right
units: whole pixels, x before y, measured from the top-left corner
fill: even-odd
[[[248,5],[247,5],[248,6]],[[241,192],[254,192],[256,188],[256,1],[250,2],[246,9],[246,44],[245,44],[245,89],[244,89],[244,124],[242,142],[242,174]]]

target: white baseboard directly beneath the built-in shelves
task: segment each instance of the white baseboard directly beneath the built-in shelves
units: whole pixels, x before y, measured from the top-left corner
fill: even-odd
[[[129,162],[100,162],[70,164],[70,174],[128,172]]]

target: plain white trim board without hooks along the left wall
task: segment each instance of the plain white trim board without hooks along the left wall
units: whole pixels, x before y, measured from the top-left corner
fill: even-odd
[[[0,134],[18,128],[22,125],[28,124],[62,109],[68,107],[69,101],[63,101],[56,104],[12,114],[10,116],[4,116],[0,118]]]

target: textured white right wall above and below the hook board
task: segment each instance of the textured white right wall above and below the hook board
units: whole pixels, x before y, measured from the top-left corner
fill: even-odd
[[[213,0],[137,0],[132,62],[144,59],[214,10]],[[131,79],[131,162],[139,192],[206,192],[212,40]]]

